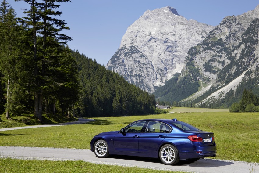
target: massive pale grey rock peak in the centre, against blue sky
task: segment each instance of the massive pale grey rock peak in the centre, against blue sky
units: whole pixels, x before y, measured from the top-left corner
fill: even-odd
[[[213,26],[187,20],[171,7],[147,10],[128,27],[106,68],[152,93],[182,71],[188,50],[212,29]]]

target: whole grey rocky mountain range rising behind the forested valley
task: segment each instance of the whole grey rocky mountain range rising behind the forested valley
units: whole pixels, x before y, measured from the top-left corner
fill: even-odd
[[[240,88],[256,91],[259,5],[226,16],[215,27],[187,20],[171,9],[147,10],[130,25],[106,68],[171,103],[229,106],[239,98],[233,97]]]

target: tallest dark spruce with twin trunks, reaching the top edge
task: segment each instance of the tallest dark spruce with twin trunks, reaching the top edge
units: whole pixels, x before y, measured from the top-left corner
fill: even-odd
[[[61,44],[72,40],[66,34],[60,33],[69,29],[64,20],[55,18],[62,12],[55,11],[60,5],[56,3],[70,2],[69,0],[15,0],[30,4],[30,8],[24,11],[27,17],[21,22],[31,34],[34,67],[34,116],[42,120],[43,98],[48,95],[50,81],[54,80],[53,63],[65,50]],[[55,51],[53,51],[55,49]],[[50,51],[52,50],[52,51]],[[55,71],[55,70],[54,70]],[[55,82],[54,82],[55,83]],[[63,82],[64,83],[64,82]],[[55,87],[52,87],[55,88]],[[46,99],[45,99],[46,100]]]

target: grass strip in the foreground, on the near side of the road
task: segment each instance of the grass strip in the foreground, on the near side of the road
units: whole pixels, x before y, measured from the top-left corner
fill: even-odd
[[[0,172],[5,173],[29,173],[29,172],[44,172],[44,173],[58,173],[58,172],[91,172],[91,173],[153,173],[152,169],[138,168],[138,167],[122,167],[104,164],[92,164],[83,161],[48,161],[48,160],[18,160],[18,159],[0,159]],[[183,173],[180,171],[158,171],[158,173]]]

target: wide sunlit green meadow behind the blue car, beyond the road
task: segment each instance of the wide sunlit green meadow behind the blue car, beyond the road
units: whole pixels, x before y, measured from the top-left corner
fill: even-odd
[[[214,132],[217,159],[259,163],[259,113],[193,112],[94,118],[96,121],[87,124],[3,131],[0,145],[90,149],[94,135],[119,130],[145,118],[177,118]]]

